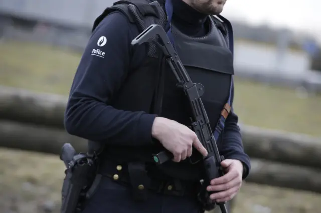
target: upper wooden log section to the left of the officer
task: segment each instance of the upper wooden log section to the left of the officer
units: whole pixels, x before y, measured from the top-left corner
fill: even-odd
[[[64,128],[67,98],[24,89],[0,87],[0,118]]]

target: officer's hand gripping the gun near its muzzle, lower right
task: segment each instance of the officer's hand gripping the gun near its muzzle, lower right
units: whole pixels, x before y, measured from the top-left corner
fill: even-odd
[[[242,185],[243,164],[239,160],[226,159],[221,162],[226,174],[213,179],[208,191],[219,191],[210,195],[216,202],[226,202],[237,194]]]

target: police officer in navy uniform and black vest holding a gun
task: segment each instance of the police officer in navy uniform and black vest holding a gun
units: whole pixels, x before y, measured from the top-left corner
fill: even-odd
[[[225,1],[128,0],[107,8],[95,21],[65,112],[70,134],[104,147],[100,178],[84,213],[202,211],[196,197],[202,166],[188,158],[195,152],[208,153],[190,128],[187,97],[176,87],[162,56],[150,56],[155,48],[131,45],[148,27],[138,20],[149,16],[158,17],[164,27],[170,24],[187,72],[205,87],[202,100],[226,171],[211,181],[207,190],[220,192],[210,198],[229,201],[239,191],[250,160],[243,150],[238,117],[229,107],[234,96],[232,28],[223,17],[213,16],[222,12]],[[222,117],[224,130],[216,126]],[[152,153],[164,149],[174,158],[156,166]]]

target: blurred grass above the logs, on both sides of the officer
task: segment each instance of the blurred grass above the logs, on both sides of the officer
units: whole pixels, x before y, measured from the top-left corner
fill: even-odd
[[[81,52],[0,42],[0,85],[68,95]],[[321,136],[321,95],[236,78],[234,107],[247,125]]]

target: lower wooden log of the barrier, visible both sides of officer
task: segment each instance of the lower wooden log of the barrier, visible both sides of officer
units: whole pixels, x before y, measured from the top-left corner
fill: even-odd
[[[86,151],[84,139],[70,136],[62,130],[39,128],[14,122],[0,122],[1,146],[60,154],[64,143],[71,143],[79,151]],[[252,159],[248,182],[321,193],[321,170]]]

